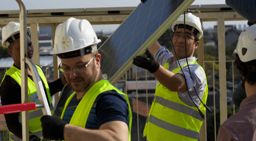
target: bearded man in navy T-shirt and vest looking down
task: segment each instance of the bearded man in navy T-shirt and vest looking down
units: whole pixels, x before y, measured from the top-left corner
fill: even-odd
[[[52,140],[130,140],[132,112],[128,96],[105,80],[92,25],[69,18],[58,25],[52,54],[75,90],[61,117],[41,118],[43,136]],[[68,124],[69,123],[69,124]]]

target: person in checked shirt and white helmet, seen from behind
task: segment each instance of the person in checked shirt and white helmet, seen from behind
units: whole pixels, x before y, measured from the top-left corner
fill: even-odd
[[[239,111],[221,124],[217,140],[256,140],[256,25],[241,32],[234,54],[246,98]]]

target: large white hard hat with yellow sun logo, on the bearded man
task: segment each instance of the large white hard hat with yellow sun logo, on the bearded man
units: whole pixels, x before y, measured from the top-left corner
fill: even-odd
[[[69,53],[100,43],[92,25],[85,19],[68,18],[56,28],[54,47],[50,54]],[[92,46],[92,52],[95,46]],[[97,50],[97,46],[96,46]]]

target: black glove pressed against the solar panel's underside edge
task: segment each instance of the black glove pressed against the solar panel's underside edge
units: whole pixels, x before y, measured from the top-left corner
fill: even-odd
[[[146,50],[146,55],[147,57],[136,56],[133,58],[132,64],[147,69],[150,73],[156,72],[160,66],[159,63],[156,62],[153,54],[150,53],[149,49]]]

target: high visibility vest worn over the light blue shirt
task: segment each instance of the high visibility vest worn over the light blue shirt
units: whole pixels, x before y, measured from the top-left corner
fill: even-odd
[[[190,63],[197,64],[203,69],[196,61]],[[164,68],[168,69],[169,64],[166,63]],[[172,72],[176,74],[179,71],[180,68],[178,67]],[[208,86],[206,81],[206,87],[202,97],[202,102],[204,103],[206,103],[207,94]],[[205,115],[205,107],[202,102],[200,104],[201,108],[199,109]],[[147,136],[147,140],[149,141],[197,141],[202,123],[203,119],[196,107],[188,106],[180,100],[178,92],[172,92],[159,83],[156,86],[155,98],[148,114],[143,136]]]

